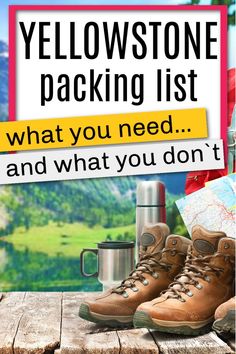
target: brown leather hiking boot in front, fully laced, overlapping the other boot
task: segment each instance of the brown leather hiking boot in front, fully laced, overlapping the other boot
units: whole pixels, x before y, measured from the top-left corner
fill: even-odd
[[[160,297],[137,308],[135,327],[198,335],[211,328],[216,308],[232,296],[235,240],[199,225],[192,239],[183,271]]]

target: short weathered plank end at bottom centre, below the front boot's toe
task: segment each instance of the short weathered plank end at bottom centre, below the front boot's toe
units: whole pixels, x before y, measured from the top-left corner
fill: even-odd
[[[117,331],[121,354],[158,354],[159,349],[147,329]]]

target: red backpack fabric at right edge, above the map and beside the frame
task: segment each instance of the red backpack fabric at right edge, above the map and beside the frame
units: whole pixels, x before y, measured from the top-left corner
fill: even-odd
[[[231,125],[232,113],[236,104],[235,98],[235,77],[236,69],[228,70],[228,126]],[[203,187],[205,183],[216,178],[225,176],[228,173],[227,167],[224,170],[195,171],[189,172],[186,177],[185,193],[193,193]]]

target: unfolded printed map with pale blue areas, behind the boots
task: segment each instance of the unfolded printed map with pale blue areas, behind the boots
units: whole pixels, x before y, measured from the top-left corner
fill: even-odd
[[[236,238],[236,174],[208,182],[206,187],[176,201],[191,235],[194,225],[224,231]]]

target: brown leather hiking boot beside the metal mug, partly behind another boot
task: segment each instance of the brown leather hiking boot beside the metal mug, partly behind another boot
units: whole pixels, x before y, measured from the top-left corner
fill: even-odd
[[[143,230],[140,261],[120,286],[81,304],[80,317],[106,326],[131,325],[136,308],[167,288],[182,269],[191,241],[159,223]]]

